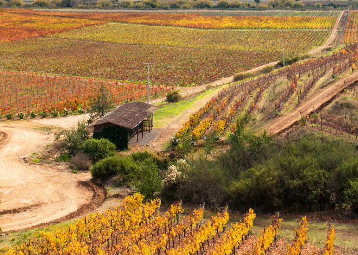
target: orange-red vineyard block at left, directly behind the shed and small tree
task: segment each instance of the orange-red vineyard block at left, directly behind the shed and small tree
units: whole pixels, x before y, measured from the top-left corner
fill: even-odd
[[[115,104],[142,101],[147,96],[146,84],[142,83],[0,71],[0,116],[86,110],[103,87],[110,91]],[[153,85],[150,94],[152,98],[161,97],[171,89]]]

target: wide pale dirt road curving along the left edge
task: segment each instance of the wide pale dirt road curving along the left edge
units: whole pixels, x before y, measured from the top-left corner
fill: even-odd
[[[80,184],[89,173],[73,174],[61,166],[29,164],[23,160],[51,144],[54,135],[40,124],[76,124],[78,116],[34,121],[0,122],[0,226],[4,232],[51,222],[91,201],[93,192]]]

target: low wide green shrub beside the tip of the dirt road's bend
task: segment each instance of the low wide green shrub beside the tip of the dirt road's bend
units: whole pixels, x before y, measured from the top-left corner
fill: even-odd
[[[93,178],[101,181],[120,175],[122,180],[127,182],[136,177],[138,165],[130,157],[112,156],[98,161],[90,171]]]

